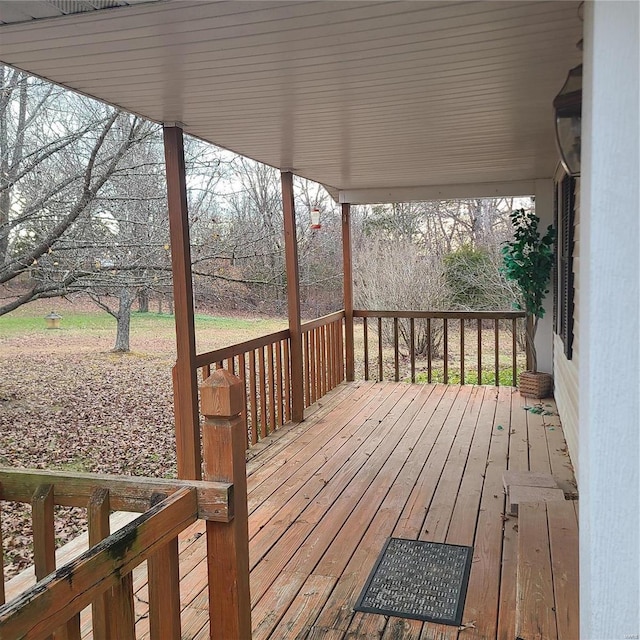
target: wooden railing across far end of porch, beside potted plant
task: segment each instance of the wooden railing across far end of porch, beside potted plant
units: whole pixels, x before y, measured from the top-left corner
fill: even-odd
[[[365,380],[499,385],[502,379],[516,386],[518,368],[526,366],[518,340],[524,312],[354,310],[353,315],[362,318]]]

